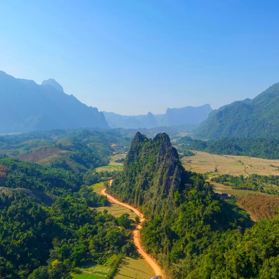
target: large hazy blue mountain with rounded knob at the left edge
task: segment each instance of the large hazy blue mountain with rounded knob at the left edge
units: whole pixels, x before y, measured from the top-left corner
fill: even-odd
[[[82,104],[49,79],[14,78],[0,71],[0,133],[20,133],[57,128],[109,128],[104,114]]]

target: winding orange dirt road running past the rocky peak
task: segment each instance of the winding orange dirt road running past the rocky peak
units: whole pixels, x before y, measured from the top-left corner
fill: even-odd
[[[112,180],[109,181],[109,185],[111,185],[111,184],[112,184]],[[103,196],[106,196],[108,198],[108,200],[113,202],[113,203],[125,206],[126,208],[129,208],[129,209],[133,210],[135,212],[135,214],[139,216],[140,224],[144,221],[143,215],[139,212],[139,210],[135,209],[134,207],[130,206],[129,204],[118,201],[113,196],[107,194],[106,189],[103,189],[100,192],[100,194],[103,195]],[[143,248],[140,245],[139,230],[142,228],[140,224],[137,225],[137,228],[133,231],[134,244],[138,248],[139,254],[143,256],[143,259],[152,268],[155,275],[161,275],[162,276],[162,269],[158,266],[158,264],[155,262],[154,259],[152,259],[149,255],[147,255],[147,253],[143,250]]]

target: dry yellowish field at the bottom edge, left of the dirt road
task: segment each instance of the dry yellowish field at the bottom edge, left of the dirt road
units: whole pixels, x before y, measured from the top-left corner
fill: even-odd
[[[154,272],[144,259],[132,259],[126,257],[118,267],[118,272],[114,279],[149,279],[152,277],[154,277]]]

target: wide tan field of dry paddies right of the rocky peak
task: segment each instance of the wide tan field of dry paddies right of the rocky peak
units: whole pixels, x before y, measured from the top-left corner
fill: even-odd
[[[253,157],[215,155],[201,151],[193,151],[195,156],[183,157],[182,165],[185,170],[198,173],[212,172],[215,174],[244,175],[249,176],[253,173],[259,175],[279,175],[279,160],[267,160]],[[191,162],[187,163],[187,161]],[[272,167],[273,165],[275,167]],[[217,168],[217,172],[215,172]]]

